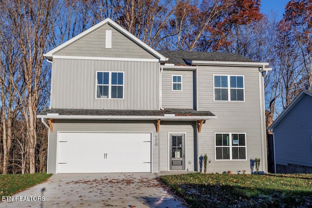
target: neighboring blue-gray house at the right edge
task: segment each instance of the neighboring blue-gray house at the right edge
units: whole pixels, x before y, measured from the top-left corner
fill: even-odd
[[[273,130],[276,173],[312,173],[312,91],[302,91],[281,113]]]

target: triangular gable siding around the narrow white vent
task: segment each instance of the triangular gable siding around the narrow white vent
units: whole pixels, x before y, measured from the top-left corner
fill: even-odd
[[[105,31],[112,30],[112,48],[105,48]],[[57,56],[78,57],[125,57],[156,59],[150,53],[106,24],[87,36],[78,39],[68,47],[55,53]]]

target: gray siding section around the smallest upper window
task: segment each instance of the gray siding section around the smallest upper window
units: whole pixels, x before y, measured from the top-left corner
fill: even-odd
[[[193,71],[163,70],[161,75],[161,95],[163,108],[194,109],[194,74]],[[172,76],[182,76],[182,90],[172,90]]]

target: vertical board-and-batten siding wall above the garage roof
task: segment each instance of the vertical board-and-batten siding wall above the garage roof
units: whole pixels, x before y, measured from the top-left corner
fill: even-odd
[[[124,72],[123,99],[96,99],[97,71]],[[159,63],[53,59],[52,108],[159,110]]]

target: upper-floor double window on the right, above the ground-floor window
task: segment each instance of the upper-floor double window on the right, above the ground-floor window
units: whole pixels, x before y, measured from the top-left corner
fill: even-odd
[[[215,100],[244,101],[243,76],[214,76]]]

